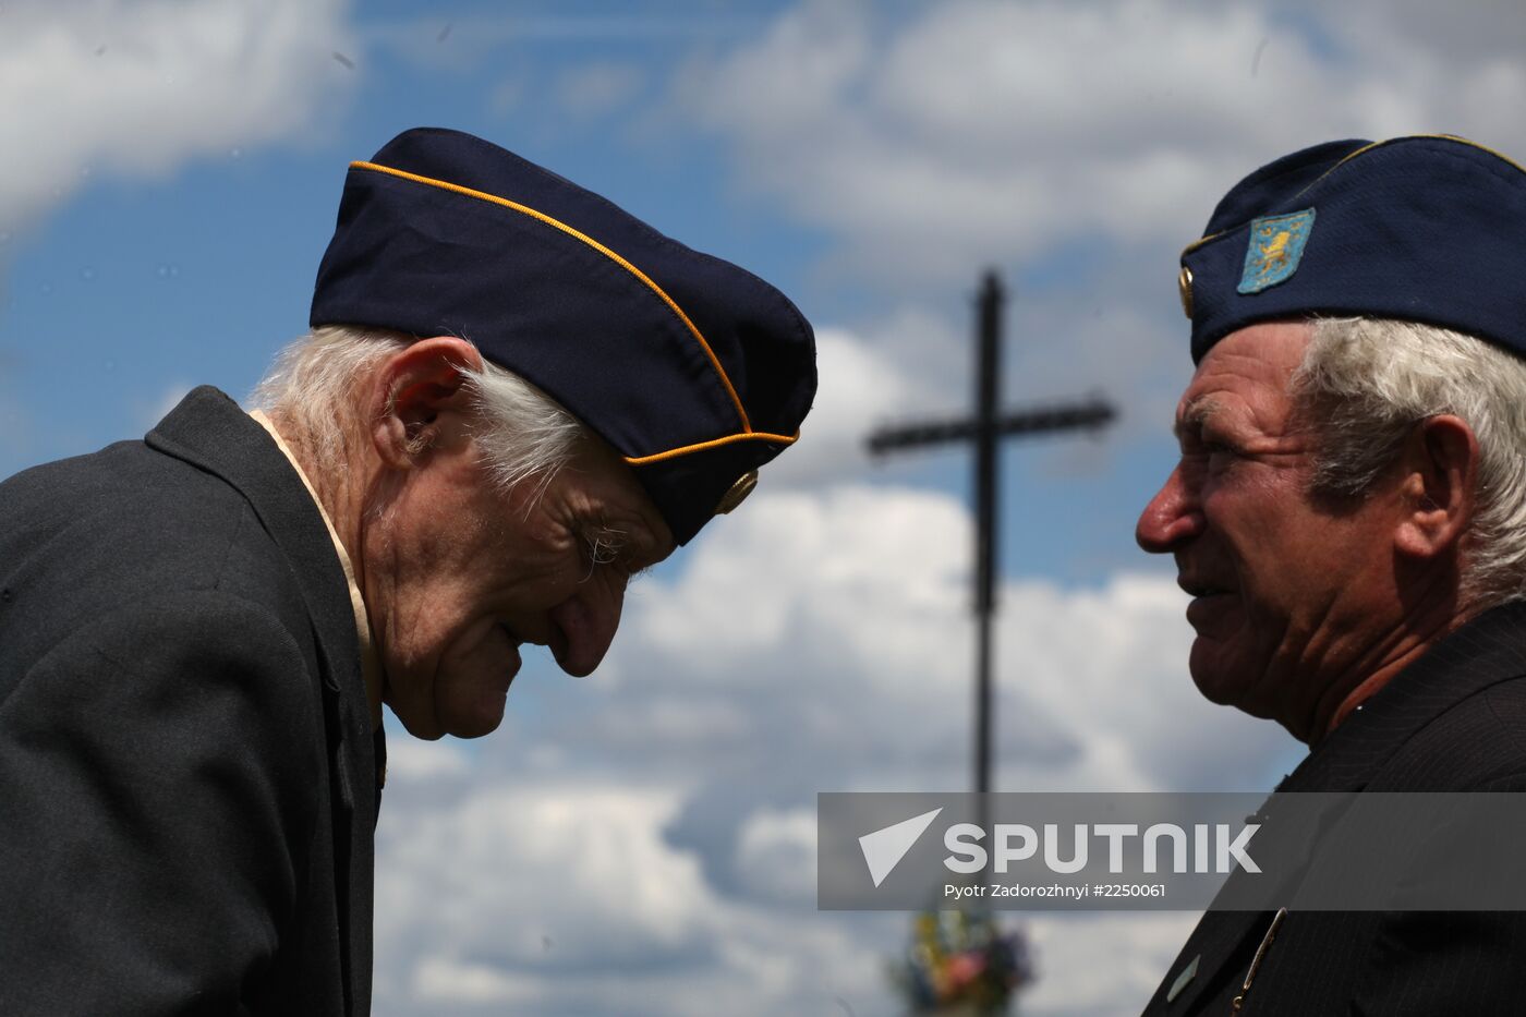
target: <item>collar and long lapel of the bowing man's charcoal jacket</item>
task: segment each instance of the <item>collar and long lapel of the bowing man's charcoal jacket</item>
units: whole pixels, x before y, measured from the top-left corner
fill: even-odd
[[[349,588],[328,527],[264,428],[215,388],[194,389],[145,441],[238,490],[293,563],[291,574],[307,602],[324,669],[345,996],[351,1012],[366,1014],[371,1005],[375,741]]]

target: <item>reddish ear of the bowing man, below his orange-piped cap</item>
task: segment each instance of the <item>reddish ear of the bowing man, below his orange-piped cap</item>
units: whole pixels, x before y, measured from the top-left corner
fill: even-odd
[[[459,423],[462,370],[482,370],[465,339],[436,336],[397,351],[371,386],[371,441],[392,469],[410,469],[441,432]]]

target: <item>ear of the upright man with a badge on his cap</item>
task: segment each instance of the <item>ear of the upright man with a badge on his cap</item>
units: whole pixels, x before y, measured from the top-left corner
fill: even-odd
[[[1401,452],[1401,516],[1395,547],[1413,557],[1453,550],[1473,524],[1479,440],[1460,417],[1421,421]]]

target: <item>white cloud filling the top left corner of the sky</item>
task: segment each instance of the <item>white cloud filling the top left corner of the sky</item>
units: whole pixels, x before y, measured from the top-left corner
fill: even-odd
[[[351,72],[343,0],[21,0],[0,14],[0,229],[87,177],[290,137]]]

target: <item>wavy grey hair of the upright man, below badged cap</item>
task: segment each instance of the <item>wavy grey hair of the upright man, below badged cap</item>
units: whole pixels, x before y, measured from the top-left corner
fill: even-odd
[[[1317,440],[1311,490],[1337,499],[1366,495],[1427,417],[1465,420],[1479,479],[1460,606],[1526,600],[1526,360],[1434,325],[1323,318],[1291,392]]]

